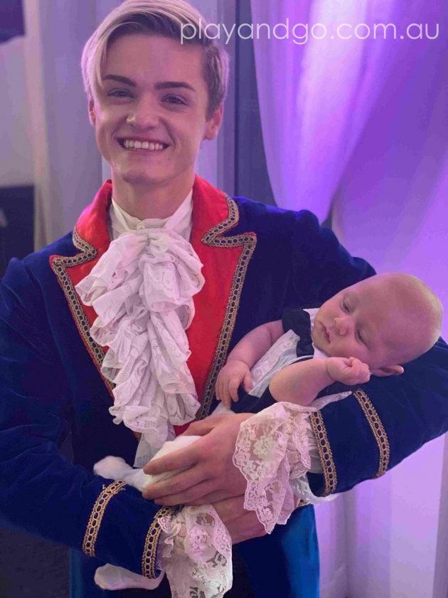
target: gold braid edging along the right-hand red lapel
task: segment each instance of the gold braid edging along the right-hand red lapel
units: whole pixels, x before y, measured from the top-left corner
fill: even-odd
[[[206,387],[201,401],[201,409],[199,409],[196,419],[203,419],[204,417],[208,416],[210,412],[210,406],[215,394],[216,377],[218,376],[219,370],[225,363],[230,337],[232,336],[233,327],[235,326],[238,306],[240,305],[242,285],[247,273],[247,266],[249,266],[250,258],[252,257],[252,253],[255,251],[255,246],[257,245],[257,237],[255,234],[243,233],[230,237],[220,236],[238,224],[239,220],[239,212],[236,202],[228,196],[226,196],[226,199],[229,210],[228,219],[220,222],[220,224],[214,226],[213,229],[210,229],[210,231],[207,231],[207,233],[203,236],[202,241],[210,247],[234,248],[242,245],[243,250],[238,258],[235,273],[233,274],[232,286],[230,288],[230,295],[227,308],[225,310],[223,326],[221,327],[218,345],[216,347],[215,356],[213,357],[210,374],[208,374]]]

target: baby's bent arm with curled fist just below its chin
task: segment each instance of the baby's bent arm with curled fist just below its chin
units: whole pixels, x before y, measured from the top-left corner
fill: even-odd
[[[269,389],[277,402],[309,405],[321,390],[333,382],[353,386],[369,379],[368,365],[355,357],[326,357],[284,367],[274,374]]]

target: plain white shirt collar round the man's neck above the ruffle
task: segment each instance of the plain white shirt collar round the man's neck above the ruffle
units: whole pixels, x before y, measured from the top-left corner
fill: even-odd
[[[193,189],[188,193],[178,209],[167,218],[146,218],[140,220],[136,216],[128,214],[117,204],[112,196],[112,204],[109,209],[110,236],[112,241],[132,231],[141,229],[163,229],[174,230],[186,241],[190,240],[191,229],[193,228]]]

